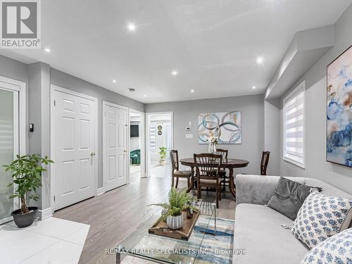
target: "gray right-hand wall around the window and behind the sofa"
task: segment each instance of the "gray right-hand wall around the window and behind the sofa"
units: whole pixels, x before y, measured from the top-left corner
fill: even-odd
[[[352,194],[352,168],[325,161],[326,152],[326,71],[327,65],[352,45],[352,5],[335,24],[336,45],[316,63],[301,80],[306,80],[306,169],[281,160],[283,176],[314,177]],[[294,89],[292,87],[291,89]],[[282,111],[280,112],[282,131]],[[280,150],[282,150],[282,133]],[[281,154],[282,157],[282,154]]]

